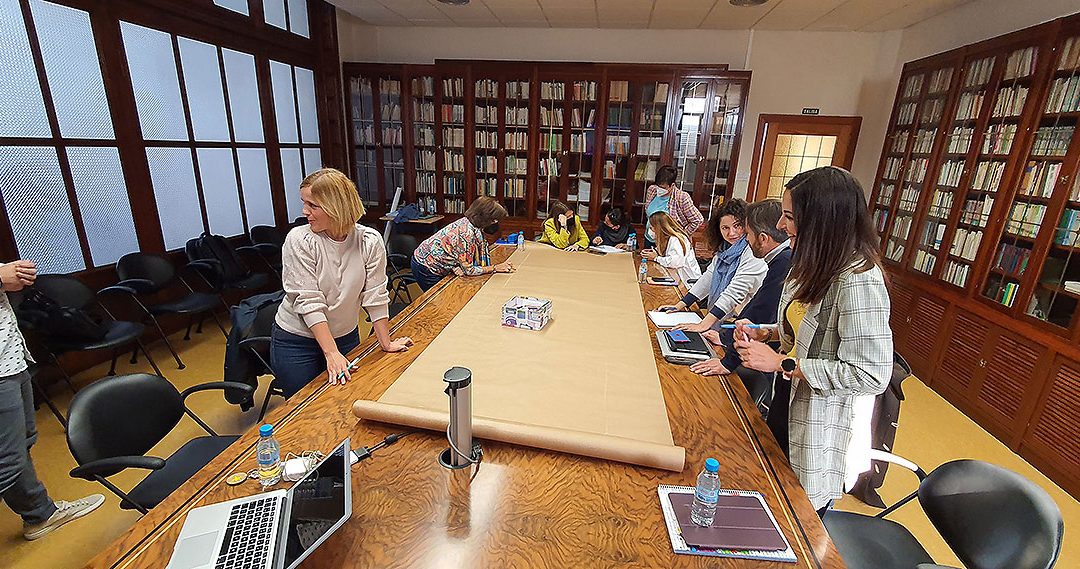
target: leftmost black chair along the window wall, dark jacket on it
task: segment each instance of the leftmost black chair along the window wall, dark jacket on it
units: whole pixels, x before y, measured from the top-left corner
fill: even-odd
[[[53,362],[56,368],[64,374],[64,378],[68,382],[68,385],[71,384],[71,377],[64,369],[64,366],[60,365],[60,355],[68,352],[89,352],[93,350],[111,349],[112,364],[109,366],[109,375],[112,376],[117,372],[117,356],[119,355],[119,348],[129,344],[135,344],[135,348],[132,350],[133,362],[136,354],[138,352],[143,352],[143,355],[146,356],[146,360],[150,363],[153,371],[159,376],[162,375],[161,369],[153,361],[150,352],[145,346],[143,346],[141,340],[139,340],[139,337],[143,336],[143,331],[146,330],[146,327],[137,322],[117,320],[116,316],[109,312],[109,309],[107,309],[100,301],[102,298],[107,296],[123,296],[131,298],[145,311],[145,307],[143,307],[141,302],[135,298],[135,292],[133,289],[125,286],[107,286],[95,294],[90,289],[90,287],[82,284],[82,282],[78,279],[63,274],[38,275],[37,281],[35,281],[33,286],[30,288],[49,297],[60,307],[81,310],[87,313],[100,312],[106,316],[97,323],[104,329],[104,337],[97,340],[59,337],[54,334],[50,334],[33,324],[28,326],[30,329],[33,329],[37,336],[41,339],[41,343],[49,351],[49,358]],[[94,310],[95,307],[96,310]],[[149,314],[149,312],[146,312],[146,314]]]

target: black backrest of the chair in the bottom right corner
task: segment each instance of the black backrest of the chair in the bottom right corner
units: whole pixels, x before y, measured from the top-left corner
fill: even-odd
[[[968,569],[1050,569],[1065,526],[1053,499],[1031,480],[978,460],[934,469],[919,503]]]

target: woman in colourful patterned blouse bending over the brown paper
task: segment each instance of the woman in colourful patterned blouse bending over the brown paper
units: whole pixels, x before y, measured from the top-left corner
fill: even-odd
[[[473,200],[464,217],[448,223],[413,252],[413,276],[427,290],[444,276],[480,276],[514,271],[510,261],[490,263],[490,246],[499,240],[507,209],[495,198]]]

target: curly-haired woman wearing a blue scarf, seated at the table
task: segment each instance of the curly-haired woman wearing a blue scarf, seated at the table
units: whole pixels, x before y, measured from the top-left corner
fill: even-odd
[[[720,319],[733,313],[747,302],[761,286],[769,265],[754,256],[746,242],[746,202],[734,199],[725,202],[713,213],[705,227],[705,240],[716,248],[713,262],[702,273],[690,292],[666,310],[686,310],[694,302],[707,299],[708,314],[700,324],[678,326],[689,331],[705,331],[719,324]]]

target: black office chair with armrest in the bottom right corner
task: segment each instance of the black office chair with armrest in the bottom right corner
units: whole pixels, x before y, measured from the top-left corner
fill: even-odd
[[[894,455],[875,452],[919,475],[919,489],[877,516],[829,510],[822,521],[851,569],[942,568],[904,526],[885,516],[918,496],[927,517],[967,569],[1050,569],[1065,527],[1038,485],[1001,466],[956,460],[927,476]]]

